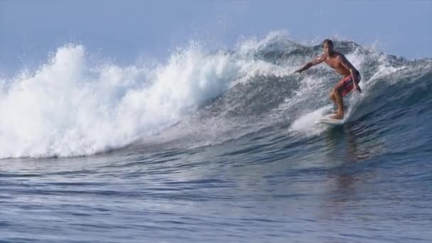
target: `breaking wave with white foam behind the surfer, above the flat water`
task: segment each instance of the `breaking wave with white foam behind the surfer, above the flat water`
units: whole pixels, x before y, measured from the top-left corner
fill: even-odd
[[[346,124],[391,141],[430,142],[432,60],[407,60],[352,41],[335,49],[362,73]],[[87,156],[125,146],[199,147],[247,134],[286,131],[294,140],[328,126],[328,92],[340,76],[326,65],[293,74],[321,53],[284,34],[209,51],[194,44],[166,62],[120,67],[65,45],[36,72],[0,80],[0,158]],[[415,129],[416,132],[413,132]],[[428,136],[416,144],[416,136]],[[408,149],[408,148],[407,148]]]

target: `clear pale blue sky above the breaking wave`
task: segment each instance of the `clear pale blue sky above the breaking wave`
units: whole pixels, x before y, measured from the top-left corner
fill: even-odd
[[[432,0],[0,0],[0,72],[17,72],[72,43],[119,63],[164,58],[286,31],[318,44],[342,38],[406,58],[432,57]]]

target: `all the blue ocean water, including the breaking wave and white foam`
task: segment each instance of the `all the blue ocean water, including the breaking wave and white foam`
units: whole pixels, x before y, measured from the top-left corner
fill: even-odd
[[[65,45],[0,81],[0,242],[431,242],[432,60],[279,34],[157,65]]]

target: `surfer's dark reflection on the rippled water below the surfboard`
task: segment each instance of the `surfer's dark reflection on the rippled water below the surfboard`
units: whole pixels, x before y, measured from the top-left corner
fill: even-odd
[[[325,133],[324,141],[330,163],[337,165],[326,180],[325,218],[352,217],[367,198],[367,181],[376,176],[374,167],[367,164],[384,153],[384,141],[377,133],[362,132],[360,124],[335,126]]]

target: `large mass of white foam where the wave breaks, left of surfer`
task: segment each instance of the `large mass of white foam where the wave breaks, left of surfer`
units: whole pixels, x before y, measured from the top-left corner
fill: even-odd
[[[0,92],[0,158],[79,156],[124,146],[220,95],[242,72],[230,55],[190,47],[147,69],[92,67],[82,45]]]

